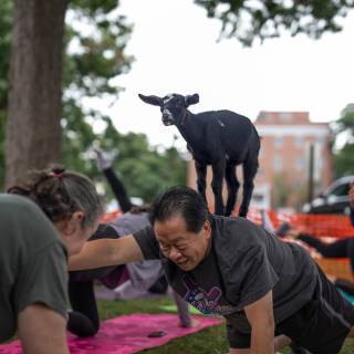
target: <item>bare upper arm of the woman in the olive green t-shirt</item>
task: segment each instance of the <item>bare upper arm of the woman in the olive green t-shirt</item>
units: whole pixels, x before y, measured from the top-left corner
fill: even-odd
[[[66,320],[42,304],[31,304],[19,313],[19,337],[23,353],[66,354]]]

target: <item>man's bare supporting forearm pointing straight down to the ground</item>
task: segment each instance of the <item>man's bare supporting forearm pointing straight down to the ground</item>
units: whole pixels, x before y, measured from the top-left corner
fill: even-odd
[[[247,305],[244,312],[252,327],[251,354],[274,354],[274,317],[272,291]]]

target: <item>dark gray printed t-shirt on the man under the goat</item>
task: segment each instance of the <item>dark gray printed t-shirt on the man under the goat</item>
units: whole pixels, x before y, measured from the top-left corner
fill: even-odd
[[[311,298],[317,268],[298,244],[275,236],[243,218],[210,215],[212,247],[191,271],[185,272],[159,251],[152,227],[134,235],[146,259],[160,258],[170,285],[205,314],[221,314],[240,332],[251,327],[243,308],[273,291],[275,323]]]

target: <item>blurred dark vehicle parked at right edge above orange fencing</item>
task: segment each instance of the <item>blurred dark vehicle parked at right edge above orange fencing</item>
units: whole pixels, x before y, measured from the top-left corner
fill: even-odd
[[[350,185],[354,176],[345,176],[335,180],[317,198],[306,202],[302,211],[306,214],[342,214],[350,215]]]

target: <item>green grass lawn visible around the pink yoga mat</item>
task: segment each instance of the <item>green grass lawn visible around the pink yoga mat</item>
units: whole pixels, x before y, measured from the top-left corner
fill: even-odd
[[[129,300],[129,301],[98,301],[101,319],[112,319],[119,314],[129,313],[162,313],[160,306],[173,304],[170,298]],[[212,326],[201,332],[180,337],[169,342],[167,345],[149,351],[146,354],[226,354],[228,345],[223,325]],[[281,353],[289,354],[290,351],[283,350]],[[345,342],[341,354],[354,353],[354,340]]]

